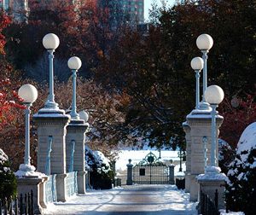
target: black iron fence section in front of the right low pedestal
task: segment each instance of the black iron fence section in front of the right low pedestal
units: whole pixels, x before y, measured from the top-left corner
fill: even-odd
[[[214,194],[214,200],[212,201],[207,194],[201,191],[200,195],[200,213],[202,215],[219,215],[218,212],[218,189]]]

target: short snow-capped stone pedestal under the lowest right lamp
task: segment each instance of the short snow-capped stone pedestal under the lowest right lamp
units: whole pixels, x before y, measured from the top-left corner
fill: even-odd
[[[226,179],[225,174],[220,173],[220,168],[215,166],[208,166],[207,172],[197,177],[200,191],[207,194],[212,202],[214,202],[216,189],[218,190],[218,210],[225,209],[224,188]]]

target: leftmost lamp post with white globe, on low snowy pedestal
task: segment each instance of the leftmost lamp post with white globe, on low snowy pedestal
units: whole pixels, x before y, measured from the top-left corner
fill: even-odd
[[[38,90],[32,84],[24,84],[20,87],[18,95],[23,99],[23,104],[26,106],[26,135],[25,135],[25,156],[24,165],[29,170],[30,163],[30,107],[38,98]],[[34,170],[34,167],[33,167]]]

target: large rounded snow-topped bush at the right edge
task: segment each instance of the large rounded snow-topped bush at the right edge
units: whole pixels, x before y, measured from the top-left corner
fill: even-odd
[[[226,202],[233,211],[256,214],[256,123],[243,131],[227,176]]]

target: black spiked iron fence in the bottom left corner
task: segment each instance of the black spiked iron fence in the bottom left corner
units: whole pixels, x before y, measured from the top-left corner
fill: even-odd
[[[33,208],[33,191],[30,193],[22,195],[20,197],[5,198],[0,200],[0,215],[21,215],[21,214],[34,214]]]

